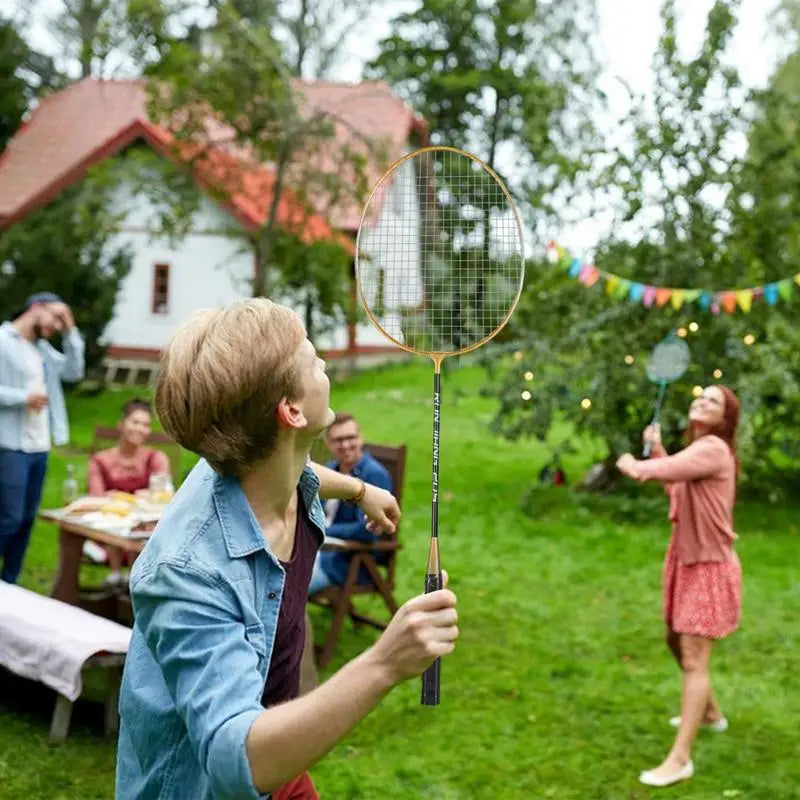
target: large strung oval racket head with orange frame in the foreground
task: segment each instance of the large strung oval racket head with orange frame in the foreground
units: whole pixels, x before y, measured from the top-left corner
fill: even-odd
[[[454,147],[395,161],[361,215],[359,300],[408,352],[436,359],[496,336],[519,301],[524,264],[522,223],[503,181]]]

